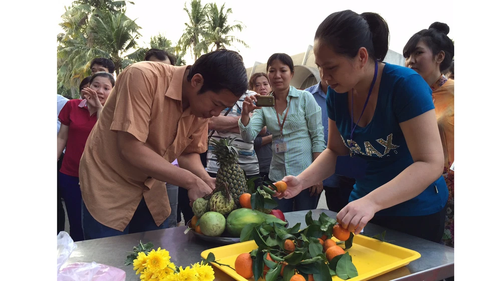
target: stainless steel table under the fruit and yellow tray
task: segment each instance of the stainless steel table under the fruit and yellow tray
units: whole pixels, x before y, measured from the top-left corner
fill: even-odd
[[[315,209],[313,218],[318,219],[320,213],[325,212],[331,217],[336,213],[326,209]],[[308,211],[285,213],[290,225],[298,222],[306,227],[305,215]],[[184,234],[185,227],[167,228],[121,236],[107,237],[76,242],[77,248],[73,251],[68,263],[91,262],[103,263],[125,270],[127,281],[139,281],[132,265],[124,265],[126,252],[132,247],[143,242],[153,242],[156,248],[161,247],[170,252],[171,261],[178,266],[188,266],[200,261],[200,252],[219,246],[198,240],[192,233]],[[425,239],[417,238],[398,231],[388,230],[384,227],[369,223],[364,228],[364,234],[372,236],[386,230],[386,240],[391,243],[413,249],[421,257],[412,261],[407,266],[388,272],[371,280],[441,280],[454,275],[454,249]],[[216,280],[232,280],[225,273],[214,267]]]

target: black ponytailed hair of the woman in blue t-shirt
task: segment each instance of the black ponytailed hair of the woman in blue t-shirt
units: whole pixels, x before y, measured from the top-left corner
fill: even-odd
[[[381,15],[343,10],[331,13],[320,23],[315,40],[327,43],[336,53],[350,58],[365,47],[370,58],[383,61],[388,52],[389,35],[388,23]]]

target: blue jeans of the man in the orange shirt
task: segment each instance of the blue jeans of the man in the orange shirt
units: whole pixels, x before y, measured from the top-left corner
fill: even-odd
[[[82,228],[85,240],[163,229],[167,228],[168,221],[169,218],[157,226],[144,198],[142,198],[129,224],[127,224],[124,231],[120,231],[99,223],[87,210],[82,200]]]

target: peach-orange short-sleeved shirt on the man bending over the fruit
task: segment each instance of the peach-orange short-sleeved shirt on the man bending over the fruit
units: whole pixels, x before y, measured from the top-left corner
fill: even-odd
[[[117,131],[134,135],[170,163],[183,152],[207,150],[208,119],[182,108],[187,67],[142,61],[118,75],[80,161],[82,198],[100,223],[123,231],[143,197],[157,225],[170,214],[165,182],[120,158]]]

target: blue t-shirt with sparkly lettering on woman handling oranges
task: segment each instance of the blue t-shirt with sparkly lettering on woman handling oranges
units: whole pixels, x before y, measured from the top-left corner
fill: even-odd
[[[343,142],[352,143],[354,157],[367,161],[366,175],[357,179],[350,201],[367,195],[387,183],[414,161],[399,123],[432,110],[431,89],[417,72],[386,63],[383,68],[376,110],[365,127],[356,126],[351,134],[348,95],[327,91],[329,118],[336,121]],[[380,215],[427,215],[440,211],[447,201],[448,190],[442,176],[416,197],[379,211]]]

